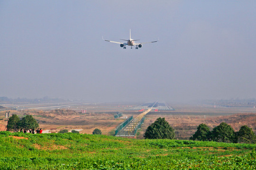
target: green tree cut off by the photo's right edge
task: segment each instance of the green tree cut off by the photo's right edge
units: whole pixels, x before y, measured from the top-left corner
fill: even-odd
[[[256,144],[256,135],[252,128],[245,125],[236,133],[236,140],[238,143]]]

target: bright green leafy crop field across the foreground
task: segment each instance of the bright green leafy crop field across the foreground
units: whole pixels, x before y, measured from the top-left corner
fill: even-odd
[[[256,144],[0,132],[0,170],[255,170]]]

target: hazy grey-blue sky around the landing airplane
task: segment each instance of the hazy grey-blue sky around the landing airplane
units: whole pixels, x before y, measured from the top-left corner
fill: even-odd
[[[255,0],[0,0],[0,96],[256,97]],[[129,38],[142,48],[105,39]]]

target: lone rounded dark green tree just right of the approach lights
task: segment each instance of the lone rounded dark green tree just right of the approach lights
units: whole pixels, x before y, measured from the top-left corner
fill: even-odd
[[[157,118],[154,123],[147,127],[145,139],[174,139],[174,129],[165,118]]]

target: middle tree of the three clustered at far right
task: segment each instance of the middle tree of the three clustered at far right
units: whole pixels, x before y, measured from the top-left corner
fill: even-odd
[[[234,129],[225,122],[214,127],[211,132],[211,139],[215,142],[226,142],[231,143],[234,140],[235,131]]]

